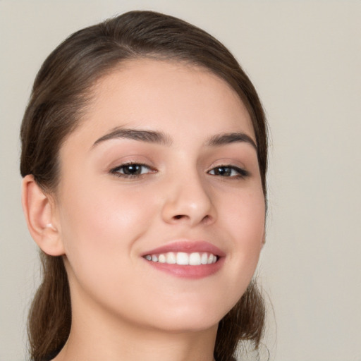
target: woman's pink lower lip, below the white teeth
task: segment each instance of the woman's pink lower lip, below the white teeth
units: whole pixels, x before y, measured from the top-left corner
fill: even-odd
[[[145,259],[145,262],[159,271],[166,272],[176,277],[183,279],[202,279],[219,271],[224,264],[224,257],[218,259],[216,263],[200,264],[199,266],[152,262],[147,259]]]

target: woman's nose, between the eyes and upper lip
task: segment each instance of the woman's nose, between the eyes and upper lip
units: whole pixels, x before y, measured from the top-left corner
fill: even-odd
[[[212,202],[212,190],[195,172],[188,176],[177,175],[168,180],[162,209],[162,217],[169,224],[212,224],[216,209]]]

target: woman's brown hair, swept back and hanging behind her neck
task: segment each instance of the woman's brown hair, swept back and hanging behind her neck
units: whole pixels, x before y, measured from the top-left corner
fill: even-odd
[[[255,87],[231,53],[203,30],[151,11],[130,11],[75,32],[44,61],[32,88],[20,130],[20,172],[32,174],[44,191],[59,182],[58,154],[78,126],[92,85],[126,59],[152,57],[202,66],[228,82],[252,119],[266,200],[267,126]],[[71,300],[61,257],[41,254],[43,280],[28,320],[31,360],[55,357],[71,328]],[[234,357],[239,341],[258,347],[264,329],[264,303],[255,282],[219,323],[214,356]]]

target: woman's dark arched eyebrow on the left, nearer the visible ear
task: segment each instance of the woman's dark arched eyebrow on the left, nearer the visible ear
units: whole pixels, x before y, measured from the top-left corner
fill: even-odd
[[[99,137],[99,139],[96,140],[92,145],[92,148],[94,148],[99,143],[104,142],[105,140],[117,138],[140,140],[141,142],[157,143],[166,146],[170,146],[172,143],[172,140],[168,135],[154,130],[114,128],[106,135]]]

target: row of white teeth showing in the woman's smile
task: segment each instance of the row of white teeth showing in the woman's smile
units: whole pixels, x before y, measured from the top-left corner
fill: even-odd
[[[160,255],[146,255],[145,259],[159,263],[200,266],[200,264],[216,263],[218,257],[207,252],[192,252],[190,254],[185,252],[167,252]]]

